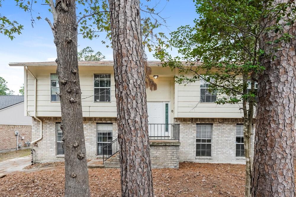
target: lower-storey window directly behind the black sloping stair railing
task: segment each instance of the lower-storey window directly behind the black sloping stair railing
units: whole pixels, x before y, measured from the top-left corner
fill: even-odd
[[[98,150],[97,154],[103,154],[103,147],[112,142],[112,123],[97,123],[97,144]],[[107,146],[104,149],[104,154],[112,154],[112,146]]]

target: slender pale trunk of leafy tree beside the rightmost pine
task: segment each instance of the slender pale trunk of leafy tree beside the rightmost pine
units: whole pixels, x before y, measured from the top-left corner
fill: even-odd
[[[243,74],[243,93],[247,94],[247,78],[248,74]],[[249,110],[247,110],[247,101],[248,98],[243,98],[243,112],[244,112],[244,156],[246,158],[246,180],[245,180],[245,197],[251,196],[251,185],[252,185],[252,130],[250,130],[249,125],[251,124],[252,128],[252,120],[250,122],[249,116],[252,115]]]

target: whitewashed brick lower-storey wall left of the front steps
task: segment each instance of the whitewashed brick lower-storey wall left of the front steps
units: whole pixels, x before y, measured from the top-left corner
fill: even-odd
[[[33,146],[34,162],[56,162],[64,161],[63,155],[56,155],[56,130],[55,124],[60,121],[43,121],[43,137],[37,142],[37,146]],[[87,159],[96,159],[96,123],[113,123],[112,137],[116,139],[118,136],[117,123],[111,121],[84,121],[84,137],[86,145]],[[40,136],[40,123],[32,120],[32,140]]]

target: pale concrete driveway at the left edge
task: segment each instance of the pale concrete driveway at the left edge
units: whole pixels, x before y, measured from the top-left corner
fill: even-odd
[[[0,162],[0,177],[16,171],[23,171],[25,166],[31,164],[31,157],[19,157]]]

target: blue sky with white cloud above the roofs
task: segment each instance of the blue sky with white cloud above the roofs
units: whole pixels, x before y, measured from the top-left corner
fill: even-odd
[[[152,0],[151,4],[155,4],[155,2],[158,2],[158,0]],[[162,9],[164,6],[165,8],[161,12],[161,16],[167,18],[166,23],[168,27],[163,27],[160,31],[165,34],[176,30],[181,25],[193,24],[194,18],[197,17],[192,0],[160,0],[158,9]],[[16,35],[16,38],[12,41],[8,37],[0,35],[0,76],[8,82],[9,89],[12,89],[15,95],[19,94],[20,86],[23,84],[24,71],[23,67],[8,66],[9,62],[53,61],[57,57],[52,32],[48,23],[44,20],[45,17],[52,19],[51,13],[47,9],[48,7],[44,5],[34,5],[34,10],[41,13],[42,19],[36,21],[32,28],[30,14],[17,8],[14,0],[6,0],[2,3],[2,7],[0,7],[2,15],[11,20],[16,20],[24,26],[22,34]],[[78,37],[78,51],[86,46],[90,46],[94,51],[101,51],[106,57],[105,60],[113,60],[112,49],[106,48],[101,43],[101,40],[104,40],[104,38],[104,35],[94,40]],[[176,55],[176,50],[173,50],[172,54]],[[147,57],[148,60],[155,60],[152,53],[147,52]]]

